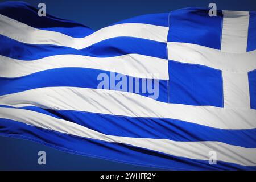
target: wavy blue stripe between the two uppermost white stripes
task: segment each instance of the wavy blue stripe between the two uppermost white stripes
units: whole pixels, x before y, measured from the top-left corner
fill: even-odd
[[[18,42],[14,39],[0,35],[0,55],[20,60],[36,60],[53,55],[84,55],[92,57],[113,57],[129,53],[166,58],[166,44],[153,40],[117,37],[102,40],[84,49],[55,45],[35,45]]]

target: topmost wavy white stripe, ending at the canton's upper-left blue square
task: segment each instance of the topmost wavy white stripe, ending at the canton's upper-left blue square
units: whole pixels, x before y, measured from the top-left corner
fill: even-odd
[[[28,44],[52,44],[82,49],[105,39],[130,36],[167,42],[168,27],[143,23],[123,23],[102,28],[85,38],[72,38],[55,31],[39,30],[0,15],[0,34]]]

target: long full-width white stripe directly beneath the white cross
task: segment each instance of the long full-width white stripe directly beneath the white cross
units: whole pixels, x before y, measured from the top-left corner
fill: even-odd
[[[0,105],[38,106],[131,117],[171,118],[220,129],[256,128],[256,110],[159,102],[139,94],[76,87],[47,87],[0,96]]]

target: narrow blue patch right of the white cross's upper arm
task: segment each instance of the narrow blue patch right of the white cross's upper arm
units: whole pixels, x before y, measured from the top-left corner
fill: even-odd
[[[250,12],[247,51],[256,50],[256,11]]]

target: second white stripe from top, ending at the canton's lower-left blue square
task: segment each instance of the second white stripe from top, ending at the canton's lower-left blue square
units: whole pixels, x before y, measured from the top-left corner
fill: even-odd
[[[118,72],[139,78],[168,80],[168,61],[157,57],[129,54],[116,57],[56,55],[34,61],[0,56],[0,77],[20,77],[53,68],[79,67]],[[157,76],[157,77],[156,77]]]

